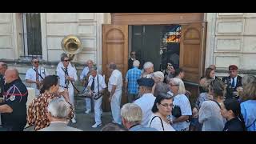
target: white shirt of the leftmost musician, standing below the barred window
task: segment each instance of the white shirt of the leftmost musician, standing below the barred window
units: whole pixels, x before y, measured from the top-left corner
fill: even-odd
[[[38,74],[41,74],[42,78],[46,78],[46,76],[49,75],[47,70],[42,66],[38,67]],[[39,81],[42,81],[42,78],[39,76]],[[36,72],[34,70],[34,66],[26,71],[25,79],[29,79],[34,82],[36,81],[37,78],[36,78]],[[40,94],[40,91],[37,89],[37,85],[35,83],[30,83],[30,86],[34,88],[36,95]]]

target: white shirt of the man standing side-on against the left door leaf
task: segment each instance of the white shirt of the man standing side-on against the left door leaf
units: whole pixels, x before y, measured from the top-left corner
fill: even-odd
[[[108,90],[111,92],[113,85],[117,86],[115,91],[122,90],[122,73],[119,70],[114,70],[110,76]]]

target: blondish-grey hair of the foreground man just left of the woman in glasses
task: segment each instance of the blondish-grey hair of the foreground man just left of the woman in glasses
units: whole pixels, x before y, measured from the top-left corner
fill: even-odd
[[[142,122],[142,109],[134,103],[126,103],[122,106],[121,117],[132,124]]]

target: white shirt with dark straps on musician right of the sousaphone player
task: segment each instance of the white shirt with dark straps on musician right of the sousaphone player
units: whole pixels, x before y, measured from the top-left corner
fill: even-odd
[[[99,91],[106,88],[105,79],[102,77],[101,74],[97,74],[95,78],[93,78],[93,76],[90,75],[88,86],[91,86],[93,79],[94,79],[94,92],[98,93],[98,87],[99,87]]]

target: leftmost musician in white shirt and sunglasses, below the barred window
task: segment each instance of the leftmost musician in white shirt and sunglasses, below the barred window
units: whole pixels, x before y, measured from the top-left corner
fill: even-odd
[[[48,74],[47,70],[39,66],[39,59],[37,57],[33,57],[31,60],[32,67],[26,71],[26,83],[30,84],[32,88],[35,90],[36,97],[40,94],[40,88],[42,85],[42,80],[46,78]]]

